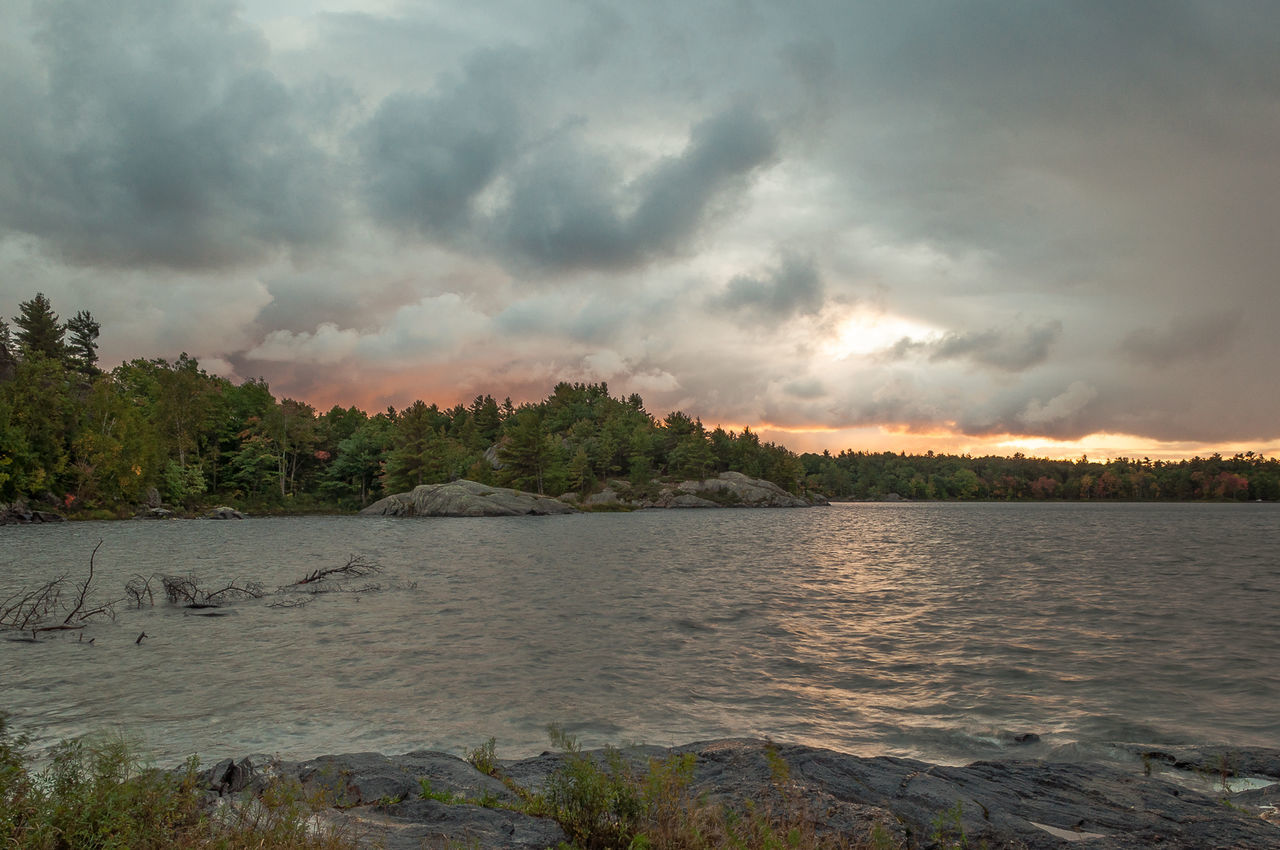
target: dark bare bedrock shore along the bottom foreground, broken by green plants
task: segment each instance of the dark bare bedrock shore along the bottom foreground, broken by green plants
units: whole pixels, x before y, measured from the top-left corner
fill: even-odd
[[[943,767],[748,739],[631,748],[622,757],[644,772],[689,754],[691,799],[739,810],[800,801],[818,835],[838,833],[850,842],[877,831],[888,846],[923,849],[1280,847],[1280,785],[1265,785],[1280,782],[1280,750],[1128,744],[1115,750],[1132,763]],[[278,777],[328,791],[340,806],[330,817],[356,826],[369,846],[535,850],[567,836],[554,819],[529,814],[524,804],[572,758],[544,753],[498,762],[490,774],[434,751],[306,762],[250,757],[227,759],[202,778],[216,795],[251,792]],[[1254,787],[1234,790],[1240,785]]]

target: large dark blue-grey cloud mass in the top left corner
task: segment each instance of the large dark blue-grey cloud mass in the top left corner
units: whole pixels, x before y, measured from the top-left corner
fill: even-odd
[[[36,4],[0,95],[0,223],[82,264],[214,268],[335,234],[328,163],[216,0]]]

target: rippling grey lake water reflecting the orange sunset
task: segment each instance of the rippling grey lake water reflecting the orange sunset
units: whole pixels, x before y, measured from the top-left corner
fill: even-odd
[[[268,588],[351,554],[381,590],[93,644],[0,640],[13,721],[123,728],[157,758],[507,757],[769,736],[959,762],[1097,741],[1280,744],[1280,512],[1268,504],[845,504],[0,529],[0,598],[97,556],[97,588],[193,573]],[[136,644],[138,634],[148,638]]]

